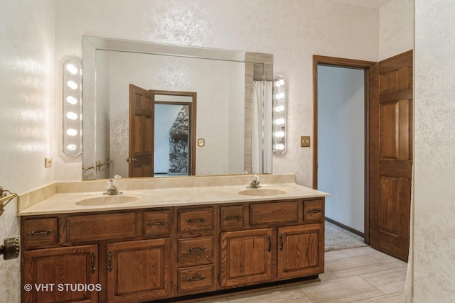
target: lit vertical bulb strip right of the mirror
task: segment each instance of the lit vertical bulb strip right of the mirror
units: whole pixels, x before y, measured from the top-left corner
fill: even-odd
[[[287,126],[287,82],[282,76],[273,79],[273,153],[282,155],[286,151]]]

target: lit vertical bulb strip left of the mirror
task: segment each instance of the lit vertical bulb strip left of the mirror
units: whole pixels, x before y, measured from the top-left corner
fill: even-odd
[[[69,59],[62,67],[63,153],[77,157],[82,153],[82,65]]]

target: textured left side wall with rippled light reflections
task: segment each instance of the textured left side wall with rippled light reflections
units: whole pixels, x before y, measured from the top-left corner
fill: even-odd
[[[23,194],[53,182],[54,1],[2,0],[0,186]],[[0,243],[19,235],[16,199],[0,216]],[[0,257],[0,301],[20,302],[19,258]]]

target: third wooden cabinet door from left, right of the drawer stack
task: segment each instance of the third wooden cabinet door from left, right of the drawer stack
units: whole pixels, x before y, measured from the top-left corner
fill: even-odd
[[[220,234],[220,286],[272,281],[272,228]]]

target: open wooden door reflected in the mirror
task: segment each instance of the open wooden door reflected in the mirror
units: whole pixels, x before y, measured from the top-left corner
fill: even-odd
[[[129,84],[129,177],[154,175],[154,103],[151,93]]]

